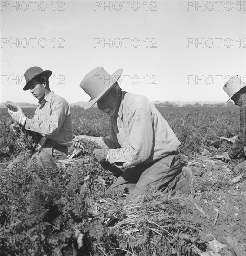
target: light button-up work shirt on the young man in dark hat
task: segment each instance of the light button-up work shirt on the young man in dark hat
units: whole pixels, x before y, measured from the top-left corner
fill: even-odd
[[[39,101],[34,117],[26,119],[25,129],[38,132],[62,146],[70,146],[73,129],[68,102],[53,91],[50,92]]]

